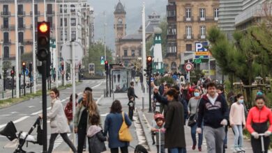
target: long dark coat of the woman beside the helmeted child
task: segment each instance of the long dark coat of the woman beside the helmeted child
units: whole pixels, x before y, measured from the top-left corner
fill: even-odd
[[[180,102],[168,103],[165,118],[165,148],[186,147],[183,115],[183,105]]]

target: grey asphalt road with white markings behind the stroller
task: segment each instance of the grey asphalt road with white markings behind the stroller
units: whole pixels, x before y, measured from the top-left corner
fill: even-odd
[[[93,88],[93,97],[95,99],[100,99],[103,96],[103,89],[105,88],[105,80],[86,80],[83,83],[76,86],[76,92],[79,97],[82,96],[82,91],[87,86]],[[72,88],[67,88],[66,90],[60,91],[60,99],[63,102],[63,106],[65,106],[66,102],[72,93]],[[47,108],[50,107],[50,97],[47,96]],[[7,108],[0,109],[0,130],[5,127],[6,123],[13,121],[15,123],[15,127],[17,131],[29,131],[32,124],[35,122],[36,118],[38,118],[38,114],[41,113],[42,109],[42,98],[36,97],[29,101],[21,102],[20,104],[15,104],[13,106]],[[104,108],[105,112],[108,111],[108,108]],[[105,113],[104,111],[101,114]],[[47,139],[50,138],[50,127],[47,124]],[[33,131],[33,136],[36,136],[36,129]],[[10,142],[6,137],[0,136],[0,152],[1,153],[10,153],[13,152],[14,148],[3,148],[6,143]],[[41,152],[43,150],[43,146],[33,145],[31,143],[28,144],[29,147],[26,148],[24,145],[24,149],[26,151],[32,152]],[[55,142],[56,149],[54,151],[64,151],[68,150],[68,146],[63,143],[62,139],[56,139]]]

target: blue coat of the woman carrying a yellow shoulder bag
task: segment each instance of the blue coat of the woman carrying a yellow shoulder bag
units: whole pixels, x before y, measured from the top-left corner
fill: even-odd
[[[130,127],[132,122],[126,113],[125,121],[128,127]],[[128,142],[122,142],[119,140],[119,129],[121,128],[122,123],[122,113],[109,113],[107,115],[105,119],[104,135],[107,136],[107,133],[109,133],[109,148],[126,147],[129,145]]]

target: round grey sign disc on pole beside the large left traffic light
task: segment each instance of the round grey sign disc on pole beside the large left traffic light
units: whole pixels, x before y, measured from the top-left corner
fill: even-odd
[[[79,63],[83,57],[83,48],[80,42],[75,42],[75,63]],[[72,43],[66,42],[61,48],[61,55],[64,61],[67,63],[72,63]]]

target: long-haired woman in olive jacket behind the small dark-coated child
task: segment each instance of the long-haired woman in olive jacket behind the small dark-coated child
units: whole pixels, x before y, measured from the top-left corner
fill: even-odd
[[[90,119],[93,114],[99,114],[98,106],[93,100],[91,91],[85,90],[83,93],[83,99],[80,104],[77,105],[75,111],[75,133],[77,133],[77,152],[82,153],[84,143],[86,142],[86,132],[91,126]],[[89,148],[90,149],[90,148]],[[89,150],[90,152],[90,150]]]

